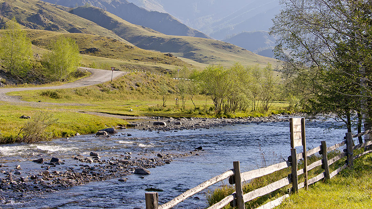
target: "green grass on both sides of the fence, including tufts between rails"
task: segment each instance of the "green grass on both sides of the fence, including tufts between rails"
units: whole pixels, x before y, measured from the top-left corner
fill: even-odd
[[[363,152],[363,149],[356,151],[356,154]],[[339,152],[328,153],[328,159],[339,155]],[[319,156],[312,156],[308,164],[320,159]],[[332,172],[345,162],[346,157],[338,160],[330,166]],[[372,154],[368,154],[354,161],[353,168],[346,168],[330,180],[321,180],[309,186],[309,190],[300,189],[296,194],[291,194],[281,206],[276,209],[369,209],[372,204]],[[303,164],[299,164],[299,169]],[[324,170],[318,166],[310,170],[309,179],[315,177]],[[272,174],[255,178],[243,185],[244,194],[257,188],[266,186],[274,181],[285,178],[291,172],[290,168],[276,171]],[[304,182],[303,175],[300,175],[299,182]],[[256,198],[246,203],[247,209],[254,209],[272,200],[275,200],[288,193],[291,185],[276,190],[268,195]],[[224,197],[235,191],[234,186],[222,185],[214,191],[207,193],[209,205],[213,205]],[[230,209],[226,206],[224,209]]]

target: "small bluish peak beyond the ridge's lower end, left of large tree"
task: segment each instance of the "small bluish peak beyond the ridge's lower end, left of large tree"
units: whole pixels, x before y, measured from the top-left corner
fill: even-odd
[[[275,47],[275,38],[266,31],[243,32],[223,40],[262,56],[273,57],[272,49]]]

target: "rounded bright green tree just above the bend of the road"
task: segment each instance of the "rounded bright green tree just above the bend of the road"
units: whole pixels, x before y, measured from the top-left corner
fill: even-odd
[[[68,79],[80,63],[79,48],[71,38],[60,36],[51,45],[52,51],[46,55],[46,62],[52,78],[58,81]]]

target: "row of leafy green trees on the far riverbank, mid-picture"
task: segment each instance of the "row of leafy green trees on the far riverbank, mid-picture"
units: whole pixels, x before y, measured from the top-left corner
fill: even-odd
[[[210,97],[217,114],[236,111],[267,111],[278,93],[278,77],[268,64],[261,69],[258,65],[244,67],[240,63],[226,68],[210,65],[204,70],[180,70],[177,94],[181,107],[185,109],[186,99],[193,101],[195,95]]]

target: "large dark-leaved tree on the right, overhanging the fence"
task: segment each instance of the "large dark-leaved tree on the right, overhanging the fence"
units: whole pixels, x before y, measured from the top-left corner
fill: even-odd
[[[275,52],[291,65],[290,77],[304,78],[312,107],[338,112],[350,126],[362,111],[371,129],[371,3],[367,0],[282,0],[271,34]],[[340,105],[340,101],[342,105]],[[358,102],[351,102],[358,101]],[[366,137],[369,140],[369,137]]]

